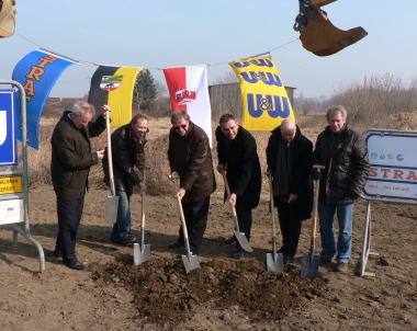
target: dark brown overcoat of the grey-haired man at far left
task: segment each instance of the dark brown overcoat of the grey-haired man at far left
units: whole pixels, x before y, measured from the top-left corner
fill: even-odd
[[[90,137],[105,129],[105,119],[99,116],[95,123],[79,129],[68,114],[69,111],[64,112],[50,138],[50,175],[58,197],[76,199],[86,194],[90,167],[99,161],[97,152],[91,152]]]

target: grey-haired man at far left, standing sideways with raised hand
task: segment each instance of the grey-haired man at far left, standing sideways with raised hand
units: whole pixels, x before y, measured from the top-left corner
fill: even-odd
[[[86,269],[78,261],[75,249],[90,167],[104,156],[103,149],[91,152],[90,142],[90,137],[97,137],[105,129],[103,116],[111,109],[103,105],[101,111],[102,116],[91,123],[94,107],[84,101],[76,102],[71,112],[64,112],[50,139],[50,174],[58,213],[55,255],[63,254],[64,264],[75,270]]]

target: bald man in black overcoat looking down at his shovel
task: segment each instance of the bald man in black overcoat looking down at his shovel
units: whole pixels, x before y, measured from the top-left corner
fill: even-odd
[[[274,203],[282,233],[284,263],[296,253],[302,221],[311,218],[313,142],[304,137],[292,119],[272,130],[267,146],[268,173],[272,175]]]

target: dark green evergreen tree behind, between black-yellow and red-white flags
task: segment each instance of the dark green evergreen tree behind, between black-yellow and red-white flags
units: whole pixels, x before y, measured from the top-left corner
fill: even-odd
[[[154,77],[148,69],[143,69],[136,77],[135,89],[133,92],[133,103],[143,111],[149,111],[158,92]]]

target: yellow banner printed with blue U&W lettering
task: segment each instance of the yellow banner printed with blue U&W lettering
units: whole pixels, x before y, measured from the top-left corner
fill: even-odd
[[[284,83],[270,56],[234,60],[230,67],[240,83],[246,129],[272,130],[283,119],[295,119]]]

